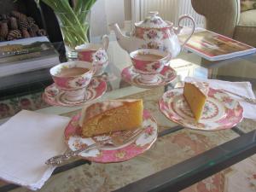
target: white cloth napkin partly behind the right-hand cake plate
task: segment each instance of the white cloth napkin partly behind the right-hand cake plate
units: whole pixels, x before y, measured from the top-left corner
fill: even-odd
[[[230,90],[231,92],[237,93],[241,96],[247,96],[255,99],[252,90],[252,84],[250,82],[230,82],[216,79],[197,79],[186,77],[186,82],[189,81],[201,81],[209,83],[209,86],[213,89],[224,89]],[[256,119],[256,105],[250,104],[249,102],[245,102],[241,97],[234,96],[230,93],[227,93],[230,97],[236,99],[236,101],[240,102],[243,108],[243,117],[248,119]]]

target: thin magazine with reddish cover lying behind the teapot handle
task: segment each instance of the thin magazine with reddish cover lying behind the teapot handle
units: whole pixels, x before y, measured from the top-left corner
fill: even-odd
[[[179,39],[183,42],[187,37],[188,35],[185,34],[179,36]],[[256,52],[256,49],[250,45],[202,28],[196,29],[185,49],[209,61],[225,60]]]

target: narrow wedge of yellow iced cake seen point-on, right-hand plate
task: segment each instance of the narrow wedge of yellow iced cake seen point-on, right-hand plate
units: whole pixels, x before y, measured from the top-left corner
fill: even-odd
[[[208,91],[209,84],[206,82],[185,82],[183,96],[188,102],[196,122],[199,122],[201,119],[201,114],[207,101]]]

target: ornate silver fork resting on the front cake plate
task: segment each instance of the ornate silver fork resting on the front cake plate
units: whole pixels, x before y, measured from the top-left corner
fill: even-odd
[[[121,135],[113,134],[111,137],[103,138],[101,141],[97,141],[96,143],[91,144],[89,146],[84,146],[75,151],[68,150],[64,154],[59,154],[54,157],[51,157],[49,160],[45,161],[45,164],[52,165],[52,166],[59,166],[61,163],[65,162],[66,160],[69,160],[73,157],[78,156],[79,153],[87,152],[93,148],[98,148],[98,149],[102,149],[106,147],[118,148],[125,144],[136,141],[137,137],[139,137],[143,131],[144,129],[141,128],[134,131],[125,131]]]

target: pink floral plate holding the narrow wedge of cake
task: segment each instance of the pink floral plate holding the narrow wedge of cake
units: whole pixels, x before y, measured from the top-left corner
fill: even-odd
[[[222,90],[210,88],[201,120],[196,122],[187,102],[183,98],[183,89],[168,90],[160,98],[160,111],[184,127],[215,131],[229,129],[241,122],[243,109],[239,102]]]

